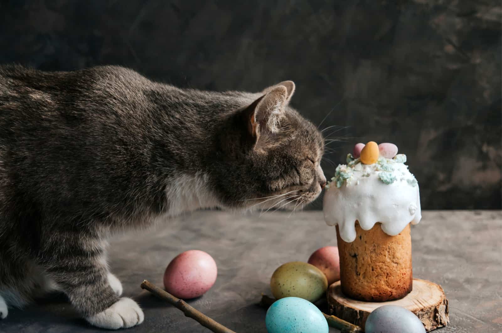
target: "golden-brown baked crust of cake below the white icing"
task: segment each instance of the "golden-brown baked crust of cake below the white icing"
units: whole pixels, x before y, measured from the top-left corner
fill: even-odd
[[[356,221],[355,228],[355,240],[348,243],[336,226],[342,292],[374,302],[408,295],[413,287],[410,224],[395,236],[386,234],[381,223],[363,230]]]

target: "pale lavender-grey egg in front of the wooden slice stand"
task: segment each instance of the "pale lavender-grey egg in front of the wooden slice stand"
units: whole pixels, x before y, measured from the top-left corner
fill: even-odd
[[[410,310],[397,305],[374,309],[364,324],[366,333],[425,333],[420,319]]]

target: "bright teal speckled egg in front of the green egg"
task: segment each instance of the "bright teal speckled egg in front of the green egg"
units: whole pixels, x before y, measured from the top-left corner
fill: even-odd
[[[328,322],[309,301],[285,297],[269,307],[265,324],[269,333],[328,333]]]

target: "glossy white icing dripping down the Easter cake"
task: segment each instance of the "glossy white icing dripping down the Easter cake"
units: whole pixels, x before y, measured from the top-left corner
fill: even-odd
[[[356,220],[364,230],[381,222],[382,230],[391,236],[410,222],[420,222],[419,187],[403,162],[406,156],[398,156],[381,157],[374,164],[363,164],[350,156],[348,165],[338,166],[324,194],[323,211],[326,224],[338,225],[344,241],[355,239]]]

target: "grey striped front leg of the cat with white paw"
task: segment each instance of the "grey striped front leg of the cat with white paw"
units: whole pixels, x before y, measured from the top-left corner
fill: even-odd
[[[144,314],[139,305],[131,298],[118,297],[122,286],[108,272],[104,249],[96,245],[97,241],[80,237],[77,242],[69,242],[65,238],[68,239],[52,239],[41,262],[77,311],[89,323],[102,328],[127,328],[142,323]]]

